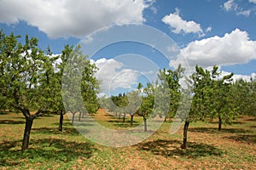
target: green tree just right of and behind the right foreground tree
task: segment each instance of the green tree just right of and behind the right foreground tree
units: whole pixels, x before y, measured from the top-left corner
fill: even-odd
[[[212,71],[195,66],[195,73],[191,76],[195,96],[189,113],[194,120],[218,118],[219,131],[223,123],[230,123],[237,116],[231,90],[233,73],[224,77],[220,74],[217,65]]]

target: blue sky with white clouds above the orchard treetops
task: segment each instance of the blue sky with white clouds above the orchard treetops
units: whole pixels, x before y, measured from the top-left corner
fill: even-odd
[[[127,23],[146,26],[148,31],[138,31],[137,37],[158,43],[112,38],[129,36],[125,26],[122,34],[115,30]],[[147,26],[161,32],[160,37]],[[99,49],[88,53],[99,68],[102,94],[107,95],[154,81],[159,69],[178,64],[190,72],[195,65],[218,65],[224,74],[234,72],[234,79],[256,76],[256,0],[1,0],[1,28],[6,34],[38,37],[39,47],[49,46],[54,54],[80,42],[86,54],[90,43],[97,44]],[[175,48],[173,42],[165,47],[173,57],[160,50],[165,36],[175,42]],[[96,43],[106,37],[113,42]]]

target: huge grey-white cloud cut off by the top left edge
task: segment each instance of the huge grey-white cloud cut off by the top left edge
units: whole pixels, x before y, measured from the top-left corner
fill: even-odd
[[[143,0],[2,0],[0,23],[25,20],[49,37],[84,37],[112,24],[142,23],[143,9],[154,1]]]

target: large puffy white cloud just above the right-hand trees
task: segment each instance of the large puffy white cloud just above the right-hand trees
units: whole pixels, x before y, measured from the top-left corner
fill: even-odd
[[[194,70],[195,65],[207,68],[212,65],[244,64],[253,59],[256,59],[256,41],[250,40],[246,31],[236,29],[224,37],[215,36],[190,42],[170,65],[176,67],[181,63],[185,66],[188,62],[188,69]]]

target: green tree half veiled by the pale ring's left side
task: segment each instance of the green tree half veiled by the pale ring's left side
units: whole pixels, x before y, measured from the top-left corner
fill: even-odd
[[[94,77],[96,65],[90,63],[88,56],[82,54],[79,46],[68,52],[70,54],[64,64],[61,78],[61,94],[66,111],[72,113],[73,124],[76,113],[97,111],[96,93],[99,82]]]

